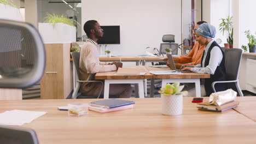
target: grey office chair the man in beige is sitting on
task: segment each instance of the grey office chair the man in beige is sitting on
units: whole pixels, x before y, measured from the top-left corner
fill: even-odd
[[[75,87],[72,94],[73,99],[81,99],[81,98],[100,98],[101,91],[103,89],[103,82],[102,81],[80,81],[80,73],[79,73],[79,61],[80,61],[80,52],[71,52],[71,56],[73,58],[73,64],[75,67]],[[102,83],[101,91],[98,93],[98,97],[95,96],[89,96],[89,95],[79,95],[78,91],[80,88],[81,83],[83,82],[100,82]]]

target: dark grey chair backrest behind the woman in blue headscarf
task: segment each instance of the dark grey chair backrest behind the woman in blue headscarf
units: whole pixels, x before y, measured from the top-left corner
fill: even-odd
[[[224,55],[227,80],[237,80],[242,58],[242,50],[235,48],[226,49]]]

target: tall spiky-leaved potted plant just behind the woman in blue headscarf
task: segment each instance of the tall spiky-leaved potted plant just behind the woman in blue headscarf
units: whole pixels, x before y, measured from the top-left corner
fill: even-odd
[[[219,31],[224,35],[226,33],[227,35],[227,43],[224,44],[225,47],[233,47],[233,21],[232,16],[228,16],[226,19],[220,19],[222,22],[219,24]],[[230,47],[230,48],[231,48]]]

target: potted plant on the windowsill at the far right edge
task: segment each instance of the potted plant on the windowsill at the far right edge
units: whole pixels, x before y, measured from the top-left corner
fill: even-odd
[[[251,34],[250,30],[248,31],[245,31],[245,34],[246,34],[246,37],[249,41],[249,43],[247,44],[248,46],[246,45],[242,45],[242,49],[247,52],[248,48],[249,48],[249,52],[256,52],[255,49],[256,49],[256,38],[255,38],[255,35],[256,35],[256,32],[255,32],[255,35]]]

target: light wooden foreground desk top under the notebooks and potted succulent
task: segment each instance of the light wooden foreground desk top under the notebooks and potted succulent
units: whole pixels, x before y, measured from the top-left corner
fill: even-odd
[[[94,100],[1,100],[0,112],[14,109],[48,112],[22,125],[36,130],[41,144],[255,143],[256,124],[251,119],[235,110],[199,111],[190,102],[191,98],[184,98],[183,114],[179,116],[161,115],[160,98],[129,99],[136,102],[133,109],[90,111],[82,117],[69,117],[67,111],[57,110],[57,106]]]

